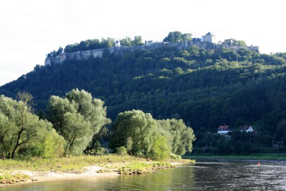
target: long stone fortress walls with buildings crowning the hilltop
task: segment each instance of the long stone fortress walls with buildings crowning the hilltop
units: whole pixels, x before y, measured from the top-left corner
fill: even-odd
[[[193,40],[185,40],[181,42],[175,42],[175,43],[165,43],[165,42],[156,42],[153,43],[152,41],[145,41],[144,45],[141,46],[120,46],[119,41],[116,41],[114,47],[107,48],[110,53],[113,54],[124,54],[130,51],[136,51],[136,50],[154,50],[161,47],[176,47],[178,50],[184,50],[192,45],[196,45],[200,48],[205,48],[207,50],[216,50],[221,47],[226,47],[232,50],[239,50],[240,48],[246,48],[248,50],[259,52],[260,49],[259,46],[226,46],[225,44],[215,44],[216,37],[212,33],[208,33],[205,36],[202,36],[202,38],[193,38]],[[45,59],[45,66],[52,65],[52,64],[61,64],[66,60],[69,59],[76,59],[76,60],[85,60],[88,59],[90,56],[94,58],[102,57],[104,48],[102,49],[95,49],[95,50],[86,50],[86,51],[78,51],[78,52],[72,52],[72,53],[61,53],[61,55],[57,57],[47,57]]]

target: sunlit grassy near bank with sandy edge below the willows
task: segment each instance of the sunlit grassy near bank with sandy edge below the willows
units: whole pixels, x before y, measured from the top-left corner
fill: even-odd
[[[117,172],[119,174],[143,174],[150,173],[158,169],[174,167],[170,162],[191,163],[194,160],[189,159],[168,159],[164,162],[150,162],[145,158],[106,154],[106,155],[80,155],[55,159],[30,158],[27,160],[19,159],[0,159],[0,185],[15,184],[25,182],[31,177],[24,172],[18,173],[18,170],[27,171],[57,171],[81,173],[85,166],[102,166],[104,169],[98,171]]]

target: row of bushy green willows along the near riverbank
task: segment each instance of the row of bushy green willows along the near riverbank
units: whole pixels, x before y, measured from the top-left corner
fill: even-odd
[[[157,121],[139,110],[120,113],[111,124],[104,102],[84,90],[51,96],[44,119],[34,113],[31,94],[18,93],[17,99],[0,96],[1,158],[102,154],[100,142],[110,139],[110,148],[161,160],[190,152],[195,139],[182,120]]]

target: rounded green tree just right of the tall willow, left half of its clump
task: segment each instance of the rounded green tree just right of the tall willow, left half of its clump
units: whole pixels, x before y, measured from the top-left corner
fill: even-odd
[[[125,146],[131,154],[150,157],[158,135],[156,129],[157,123],[150,114],[139,110],[120,113],[112,124],[111,147]]]

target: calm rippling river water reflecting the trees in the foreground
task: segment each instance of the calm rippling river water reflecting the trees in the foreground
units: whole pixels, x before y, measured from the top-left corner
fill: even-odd
[[[34,182],[0,191],[286,190],[286,161],[218,160],[160,170],[156,174]]]

